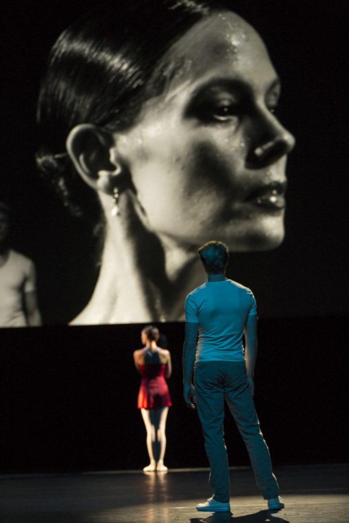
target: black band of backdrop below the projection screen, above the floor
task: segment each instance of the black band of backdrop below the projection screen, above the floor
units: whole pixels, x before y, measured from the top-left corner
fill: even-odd
[[[182,400],[184,325],[160,327],[173,359],[165,462],[207,467],[197,414]],[[348,461],[346,327],[339,317],[261,320],[255,403],[275,464]],[[132,360],[139,335],[139,325],[4,329],[0,470],[147,465]],[[249,465],[230,416],[226,444],[231,465]]]

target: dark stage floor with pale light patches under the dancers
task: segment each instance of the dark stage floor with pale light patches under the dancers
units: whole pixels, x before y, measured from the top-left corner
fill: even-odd
[[[285,508],[268,511],[252,470],[231,469],[230,513],[199,513],[208,470],[2,475],[1,523],[347,523],[349,464],[275,467]]]

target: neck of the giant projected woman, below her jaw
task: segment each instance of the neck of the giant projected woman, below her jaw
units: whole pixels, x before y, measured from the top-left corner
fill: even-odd
[[[142,256],[141,245],[117,236],[107,232],[94,293],[71,323],[184,320],[186,295],[205,281],[195,249],[156,238],[153,251]]]

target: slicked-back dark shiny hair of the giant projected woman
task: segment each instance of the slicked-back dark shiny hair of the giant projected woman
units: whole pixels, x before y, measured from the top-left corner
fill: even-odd
[[[145,101],[168,81],[161,63],[166,51],[217,8],[215,0],[114,0],[58,38],[39,95],[36,159],[73,213],[87,207],[91,214],[86,199],[93,191],[83,187],[65,153],[69,131],[79,123],[132,127]]]

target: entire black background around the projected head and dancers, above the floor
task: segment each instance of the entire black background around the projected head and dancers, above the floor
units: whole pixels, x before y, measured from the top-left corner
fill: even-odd
[[[267,253],[232,256],[233,277],[258,303],[256,395],[275,463],[347,461],[346,0],[242,0],[283,81],[288,161],[286,237]],[[15,211],[13,246],[35,261],[42,328],[0,329],[3,471],[140,469],[145,430],[132,351],[141,325],[66,327],[97,276],[96,245],[38,178],[36,99],[50,47],[94,2],[24,1],[2,8],[0,199]],[[208,238],[209,239],[209,238]],[[182,401],[184,326],[161,325],[174,372],[169,467],[205,466],[196,414]],[[227,422],[232,465],[248,459]]]

